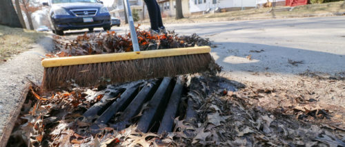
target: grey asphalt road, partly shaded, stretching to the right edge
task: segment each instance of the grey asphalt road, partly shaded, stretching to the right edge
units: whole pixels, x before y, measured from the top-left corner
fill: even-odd
[[[210,38],[217,45],[212,50],[213,57],[230,74],[253,71],[335,74],[345,71],[345,16],[186,23],[166,27],[179,34],[197,33]],[[148,26],[141,26],[141,29],[148,29]],[[128,27],[112,27],[112,30],[122,34],[128,32]],[[83,32],[85,30],[71,31],[66,35],[74,38]],[[251,56],[250,60],[247,56]]]

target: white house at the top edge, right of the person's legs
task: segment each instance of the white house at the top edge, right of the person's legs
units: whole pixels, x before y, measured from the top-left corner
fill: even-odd
[[[189,0],[191,14],[212,12],[219,8],[222,12],[255,8],[257,0]]]

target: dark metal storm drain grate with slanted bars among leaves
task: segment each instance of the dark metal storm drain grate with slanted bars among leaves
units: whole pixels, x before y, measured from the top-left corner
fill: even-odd
[[[183,76],[166,77],[114,87],[83,113],[83,121],[92,123],[92,133],[103,127],[123,130],[132,124],[143,133],[171,132],[175,117],[184,117],[188,111],[188,100],[181,100],[188,92],[185,81]]]

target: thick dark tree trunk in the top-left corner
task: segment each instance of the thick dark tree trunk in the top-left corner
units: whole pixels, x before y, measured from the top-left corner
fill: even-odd
[[[12,0],[0,0],[0,3],[0,25],[23,27],[17,12],[14,10]]]

